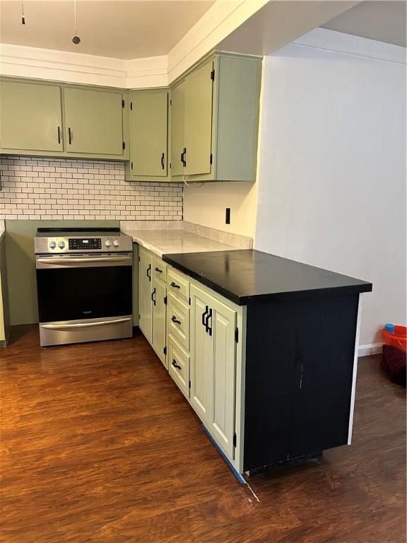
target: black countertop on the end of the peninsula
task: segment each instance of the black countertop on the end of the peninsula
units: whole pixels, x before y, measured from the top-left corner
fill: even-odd
[[[372,291],[372,283],[256,250],[190,252],[163,260],[237,305]]]

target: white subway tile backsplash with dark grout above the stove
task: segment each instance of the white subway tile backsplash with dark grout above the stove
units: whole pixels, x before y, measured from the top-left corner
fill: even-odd
[[[0,170],[0,219],[182,219],[182,184],[125,181],[122,162],[8,156]]]

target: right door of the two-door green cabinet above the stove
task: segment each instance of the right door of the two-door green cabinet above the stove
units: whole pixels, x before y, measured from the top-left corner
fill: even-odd
[[[122,156],[122,93],[64,88],[65,141],[69,153]]]

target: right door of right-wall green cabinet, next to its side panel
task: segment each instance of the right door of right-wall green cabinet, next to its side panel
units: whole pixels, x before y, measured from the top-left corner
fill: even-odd
[[[194,70],[184,81],[186,175],[211,173],[213,61]]]

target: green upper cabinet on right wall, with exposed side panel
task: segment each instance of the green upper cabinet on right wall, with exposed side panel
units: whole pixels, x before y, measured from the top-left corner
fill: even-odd
[[[175,181],[182,175],[187,182],[255,180],[260,86],[261,58],[228,53],[212,54],[177,83]]]

